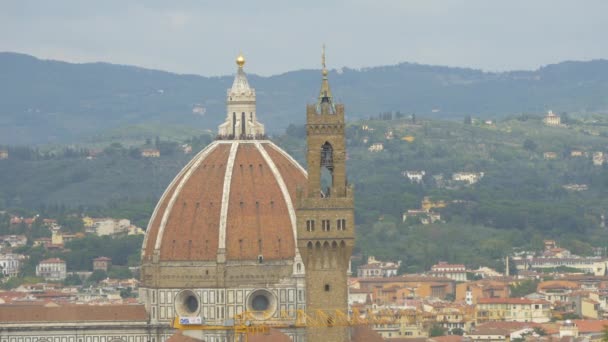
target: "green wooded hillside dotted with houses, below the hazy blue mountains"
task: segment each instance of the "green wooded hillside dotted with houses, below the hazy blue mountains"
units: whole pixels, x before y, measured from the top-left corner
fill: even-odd
[[[545,238],[583,255],[605,245],[608,166],[594,165],[592,156],[608,152],[608,121],[598,116],[569,122],[547,127],[539,117],[517,116],[489,124],[420,117],[351,123],[347,166],[356,191],[357,252],[398,258],[416,271],[438,260],[500,266],[513,246],[540,248]],[[193,143],[195,151],[209,139]],[[304,164],[302,126],[292,125],[274,140]],[[372,152],[373,144],[384,149]],[[134,151],[113,144],[89,160],[16,150],[0,160],[0,210],[67,206],[145,225],[192,155],[174,151],[145,159]],[[554,154],[548,158],[546,152]],[[425,175],[416,183],[404,171]],[[458,172],[483,176],[468,185],[452,180]],[[424,197],[446,204],[432,210],[441,219],[428,225],[416,217],[404,221],[402,214],[420,209]]]

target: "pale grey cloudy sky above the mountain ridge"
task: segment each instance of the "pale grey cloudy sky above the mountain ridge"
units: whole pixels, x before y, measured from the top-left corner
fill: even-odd
[[[9,1],[0,51],[201,75],[417,62],[488,71],[608,58],[606,0]]]

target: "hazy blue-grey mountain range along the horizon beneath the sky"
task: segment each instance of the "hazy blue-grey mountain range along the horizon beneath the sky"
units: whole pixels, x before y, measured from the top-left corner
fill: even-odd
[[[270,131],[304,121],[318,70],[250,75]],[[564,62],[489,73],[402,63],[330,72],[350,119],[383,111],[427,117],[500,118],[519,112],[608,111],[608,61]],[[145,123],[213,129],[223,121],[232,76],[202,77],[107,63],[72,64],[0,53],[0,144],[81,142]],[[200,106],[204,114],[193,113]]]

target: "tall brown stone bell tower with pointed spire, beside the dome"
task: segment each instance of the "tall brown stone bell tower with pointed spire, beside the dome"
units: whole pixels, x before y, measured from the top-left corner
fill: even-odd
[[[328,327],[308,329],[308,340],[342,342],[348,340],[348,329],[331,323],[336,311],[348,314],[353,188],[346,180],[344,106],[333,102],[325,48],[322,65],[319,99],[306,107],[308,187],[298,192],[298,248],[306,270],[306,309],[310,315],[320,310],[329,317]]]

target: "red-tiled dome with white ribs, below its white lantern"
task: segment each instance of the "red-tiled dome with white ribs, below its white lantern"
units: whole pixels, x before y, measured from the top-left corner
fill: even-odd
[[[268,140],[217,140],[158,202],[143,263],[294,260],[293,201],[305,170]]]

